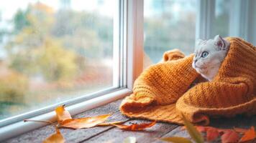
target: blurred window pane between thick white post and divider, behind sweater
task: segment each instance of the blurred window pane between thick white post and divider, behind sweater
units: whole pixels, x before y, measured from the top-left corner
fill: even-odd
[[[196,0],[145,0],[144,4],[144,66],[157,63],[170,49],[192,53]]]

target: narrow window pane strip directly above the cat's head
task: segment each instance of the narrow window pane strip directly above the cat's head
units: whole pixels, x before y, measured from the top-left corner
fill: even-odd
[[[213,24],[213,35],[220,34],[221,36],[229,36],[229,0],[216,0],[215,1],[215,17]]]

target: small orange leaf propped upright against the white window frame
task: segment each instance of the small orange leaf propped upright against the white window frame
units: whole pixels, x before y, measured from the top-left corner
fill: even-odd
[[[66,119],[72,119],[70,113],[65,110],[64,105],[57,107],[55,113],[58,119],[58,123],[65,121]]]

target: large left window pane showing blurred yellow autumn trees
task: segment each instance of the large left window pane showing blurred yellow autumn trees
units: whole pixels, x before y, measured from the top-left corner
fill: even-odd
[[[112,87],[117,6],[107,0],[2,2],[0,119]]]

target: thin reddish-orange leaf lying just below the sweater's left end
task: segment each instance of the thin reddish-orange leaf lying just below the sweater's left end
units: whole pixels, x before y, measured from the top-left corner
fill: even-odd
[[[156,122],[151,123],[143,123],[143,124],[132,124],[132,125],[124,125],[124,124],[113,124],[120,129],[129,130],[129,131],[140,131],[142,129],[146,129],[148,127],[152,127]]]

